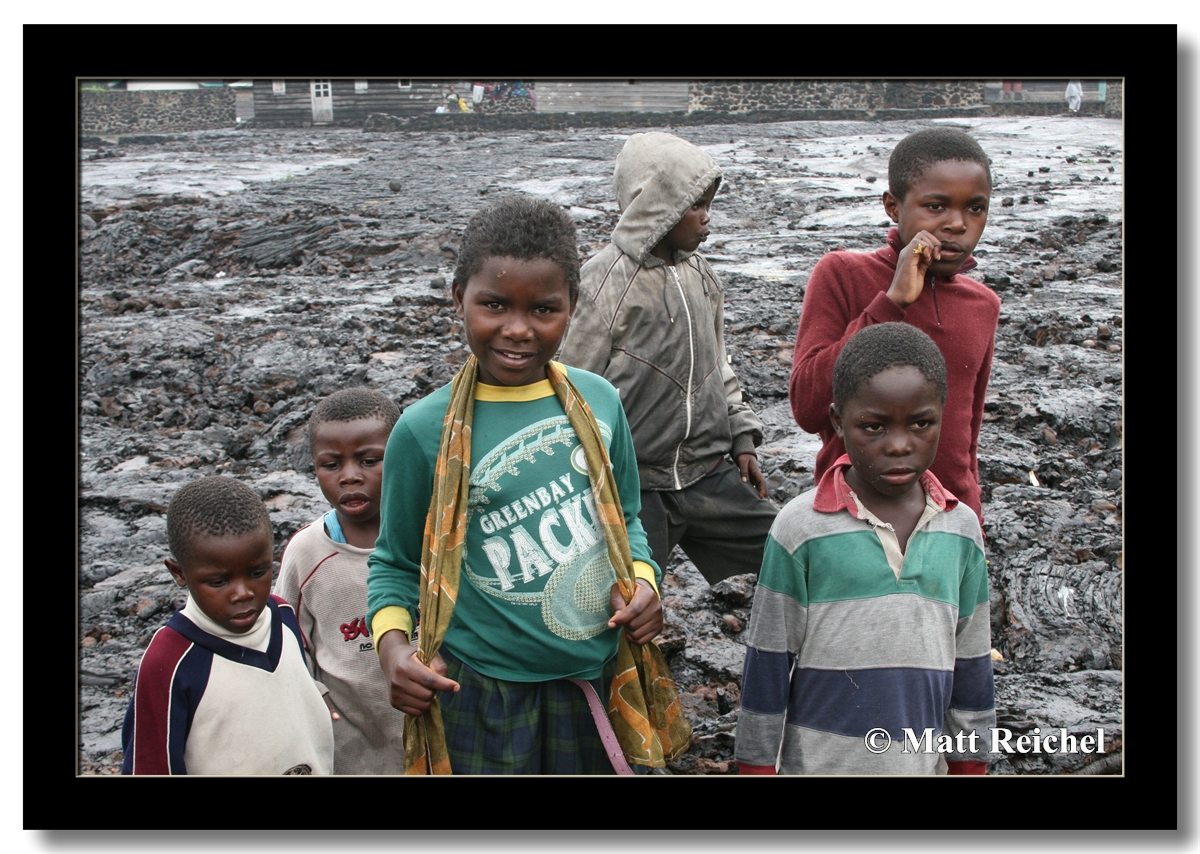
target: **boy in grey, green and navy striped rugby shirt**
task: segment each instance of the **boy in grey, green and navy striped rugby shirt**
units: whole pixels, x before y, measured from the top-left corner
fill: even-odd
[[[767,540],[742,774],[986,772],[983,535],[928,470],[946,387],[941,351],[908,324],[868,326],[839,355],[829,417],[846,453]]]

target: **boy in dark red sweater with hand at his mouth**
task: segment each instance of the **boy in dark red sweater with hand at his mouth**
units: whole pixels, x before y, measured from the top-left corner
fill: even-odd
[[[823,441],[817,481],[846,452],[829,422],[833,366],[864,326],[912,324],[946,357],[948,395],[937,479],[983,521],[979,426],[991,374],[1000,297],[962,273],[988,223],[990,160],[962,131],[932,127],[905,137],[888,161],[883,209],[896,224],[870,253],[832,252],[809,278],[796,337],[788,399],[796,422]]]

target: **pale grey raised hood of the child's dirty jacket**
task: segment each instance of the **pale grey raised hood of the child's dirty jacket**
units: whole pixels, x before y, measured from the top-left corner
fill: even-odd
[[[612,242],[642,264],[709,185],[720,186],[721,168],[691,143],[655,131],[626,140],[612,179],[620,210]]]

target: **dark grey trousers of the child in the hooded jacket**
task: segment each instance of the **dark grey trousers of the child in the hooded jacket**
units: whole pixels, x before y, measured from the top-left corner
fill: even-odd
[[[666,571],[679,546],[709,584],[758,572],[779,507],[758,498],[728,459],[683,489],[642,489],[638,518],[654,561]]]

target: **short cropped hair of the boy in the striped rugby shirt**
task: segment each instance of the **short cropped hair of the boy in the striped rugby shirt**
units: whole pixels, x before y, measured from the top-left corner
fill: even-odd
[[[937,344],[906,323],[878,323],[859,330],[833,366],[833,403],[838,411],[872,377],[888,368],[912,366],[937,387],[946,403],[946,359]]]

